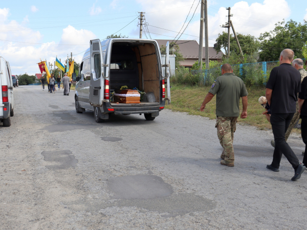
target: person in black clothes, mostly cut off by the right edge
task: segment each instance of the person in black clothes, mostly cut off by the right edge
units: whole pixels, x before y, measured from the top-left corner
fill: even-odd
[[[307,77],[304,78],[301,84],[301,91],[298,94],[298,107],[300,112],[300,117],[302,119],[301,122],[301,130],[302,130],[302,139],[305,144],[305,153],[303,164],[307,166]]]

